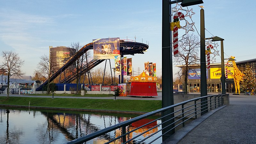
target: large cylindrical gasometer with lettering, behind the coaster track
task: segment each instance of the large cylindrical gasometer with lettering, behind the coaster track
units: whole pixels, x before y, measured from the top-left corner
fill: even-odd
[[[53,62],[56,62],[56,70],[58,70],[66,63],[66,60],[76,52],[76,50],[66,46],[49,46],[49,52],[50,59],[52,59]]]

